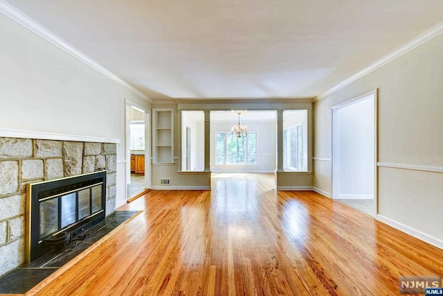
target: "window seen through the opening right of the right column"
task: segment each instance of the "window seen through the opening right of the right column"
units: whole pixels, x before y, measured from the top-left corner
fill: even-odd
[[[283,166],[295,171],[303,169],[302,123],[283,130]]]

